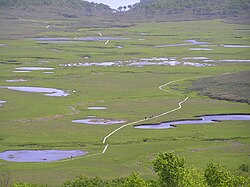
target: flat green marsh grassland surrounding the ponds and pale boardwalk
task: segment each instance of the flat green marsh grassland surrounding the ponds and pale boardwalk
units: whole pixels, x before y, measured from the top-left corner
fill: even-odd
[[[60,20],[51,22],[62,24]],[[77,20],[76,20],[77,21]],[[78,20],[79,21],[79,20]],[[33,22],[31,24],[34,27]],[[0,44],[0,86],[39,86],[62,89],[71,95],[48,97],[0,88],[0,151],[6,150],[84,150],[88,155],[101,153],[102,139],[121,125],[84,125],[72,120],[87,116],[133,122],[178,107],[182,109],[146,123],[190,119],[197,115],[250,113],[249,104],[213,100],[190,91],[199,77],[249,71],[248,63],[210,63],[216,66],[111,66],[64,67],[60,64],[140,60],[141,58],[206,57],[210,60],[249,60],[249,48],[225,48],[223,44],[250,45],[249,25],[227,24],[222,20],[143,23],[126,28],[71,28],[47,31],[36,24],[36,34],[23,39],[2,40]],[[38,32],[38,30],[40,30]],[[5,32],[5,31],[4,31]],[[20,31],[21,32],[21,31]],[[35,37],[123,37],[129,40],[78,41],[38,44]],[[141,33],[146,33],[141,34]],[[2,36],[2,33],[1,33]],[[11,37],[11,35],[9,36]],[[138,40],[139,39],[139,40]],[[143,40],[142,40],[143,39]],[[181,47],[154,46],[182,44],[195,39],[208,42],[212,51],[190,51],[199,45]],[[118,49],[116,46],[124,46]],[[207,46],[206,46],[207,48]],[[85,58],[88,56],[89,58]],[[192,60],[191,60],[192,61]],[[193,60],[192,62],[203,63]],[[53,67],[54,74],[43,71],[14,73],[18,67]],[[190,78],[190,79],[188,79]],[[247,77],[249,79],[249,77]],[[27,82],[8,83],[6,80]],[[163,92],[159,86],[174,80]],[[73,92],[73,91],[76,92]],[[249,94],[248,94],[249,95]],[[249,99],[249,98],[248,98]],[[70,106],[74,107],[73,111]],[[105,106],[108,110],[87,110]],[[207,125],[183,125],[175,129],[141,130],[126,127],[111,136],[105,154],[82,156],[52,163],[15,163],[0,160],[0,173],[11,172],[11,182],[31,182],[60,186],[77,175],[115,178],[139,172],[153,178],[152,159],[158,153],[174,151],[198,168],[219,161],[232,170],[250,164],[249,121],[223,121]]]

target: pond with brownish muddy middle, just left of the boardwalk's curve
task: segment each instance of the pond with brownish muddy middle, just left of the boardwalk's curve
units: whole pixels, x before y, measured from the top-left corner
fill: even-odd
[[[82,123],[88,125],[114,125],[125,123],[123,120],[114,120],[114,119],[100,119],[100,118],[85,118],[80,120],[73,120],[73,123]]]

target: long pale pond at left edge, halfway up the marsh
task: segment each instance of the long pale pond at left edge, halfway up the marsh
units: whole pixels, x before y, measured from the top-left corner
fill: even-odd
[[[22,92],[34,92],[34,93],[45,93],[46,96],[62,97],[68,96],[69,93],[55,89],[55,88],[42,88],[42,87],[15,87],[15,86],[0,86],[0,88],[7,88],[9,90],[22,91]]]

